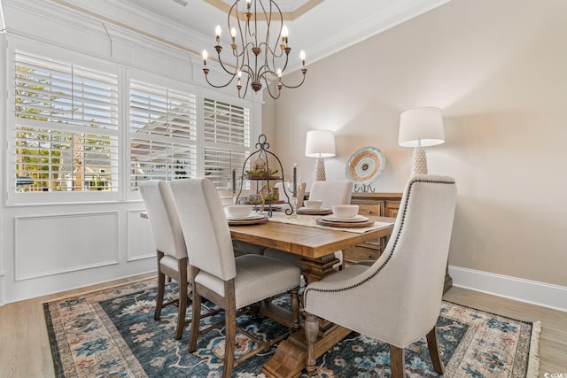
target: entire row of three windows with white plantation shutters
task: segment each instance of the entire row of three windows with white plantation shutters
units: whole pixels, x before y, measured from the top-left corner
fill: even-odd
[[[136,200],[140,181],[206,176],[227,188],[240,176],[250,102],[214,91],[204,98],[188,83],[74,51],[53,54],[13,50],[9,204]]]

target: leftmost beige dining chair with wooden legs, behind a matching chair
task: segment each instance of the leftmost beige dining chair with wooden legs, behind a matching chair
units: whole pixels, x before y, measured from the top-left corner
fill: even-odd
[[[166,181],[143,181],[139,186],[144,199],[151,234],[158,254],[158,297],[154,319],[159,320],[165,305],[177,305],[175,338],[183,336],[189,285],[189,265],[183,231],[174,197]],[[164,303],[166,276],[179,284],[179,298]]]

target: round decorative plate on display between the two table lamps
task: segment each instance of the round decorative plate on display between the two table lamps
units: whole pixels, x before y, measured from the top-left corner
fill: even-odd
[[[356,150],[346,162],[346,178],[356,185],[369,185],[382,175],[386,159],[376,147]]]

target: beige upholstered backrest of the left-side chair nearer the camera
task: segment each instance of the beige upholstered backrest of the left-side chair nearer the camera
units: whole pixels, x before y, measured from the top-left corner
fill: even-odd
[[[221,198],[208,179],[172,181],[190,265],[229,281],[237,274],[229,223]]]

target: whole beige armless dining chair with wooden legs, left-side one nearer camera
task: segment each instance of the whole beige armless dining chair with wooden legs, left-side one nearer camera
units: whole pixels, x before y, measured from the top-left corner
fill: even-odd
[[[299,328],[299,277],[297,266],[274,258],[246,254],[235,258],[229,224],[221,200],[208,179],[186,179],[171,182],[175,204],[179,211],[185,242],[188,244],[192,282],[192,311],[200,313],[202,297],[225,311],[225,349],[222,376],[229,377],[233,365],[268,351],[273,343],[252,337],[260,346],[235,361],[237,310],[291,290],[292,319],[283,322],[291,329]],[[265,313],[265,312],[262,312]],[[199,330],[198,321],[191,322],[189,351],[195,351]]]

